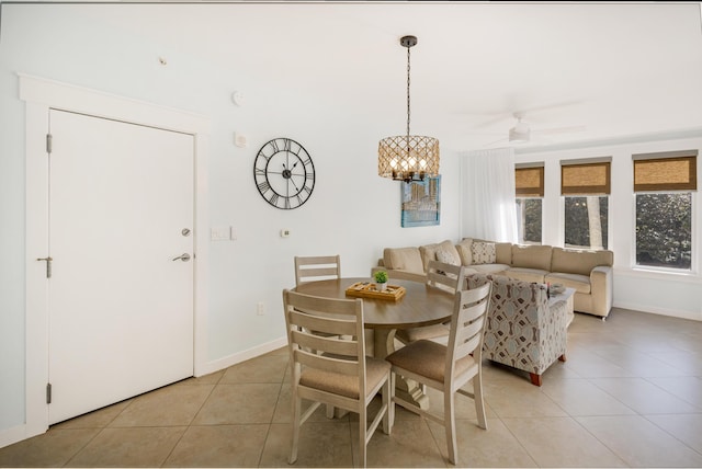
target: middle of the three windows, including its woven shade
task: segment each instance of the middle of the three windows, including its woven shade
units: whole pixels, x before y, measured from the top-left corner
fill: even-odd
[[[561,161],[566,248],[608,249],[611,158]]]

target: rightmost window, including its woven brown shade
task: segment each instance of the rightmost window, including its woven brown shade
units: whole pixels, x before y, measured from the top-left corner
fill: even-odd
[[[692,267],[697,150],[634,155],[636,265]]]

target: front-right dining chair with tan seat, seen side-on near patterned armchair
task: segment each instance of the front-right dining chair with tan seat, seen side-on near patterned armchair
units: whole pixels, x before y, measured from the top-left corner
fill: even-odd
[[[491,283],[475,289],[461,289],[455,294],[448,345],[419,340],[385,357],[392,365],[392,385],[397,375],[443,392],[443,414],[437,414],[399,398],[393,397],[393,407],[401,405],[426,419],[442,424],[446,433],[449,460],[457,464],[455,402],[456,393],[475,401],[478,426],[487,430],[483,402],[483,338],[490,301]],[[468,381],[473,391],[462,389]],[[395,412],[390,412],[390,417]],[[390,426],[394,422],[390,421]]]

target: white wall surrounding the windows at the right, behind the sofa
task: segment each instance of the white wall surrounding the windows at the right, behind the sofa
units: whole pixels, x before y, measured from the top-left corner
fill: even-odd
[[[614,251],[614,306],[666,316],[702,320],[702,199],[693,194],[693,260],[687,274],[664,273],[636,267],[635,204],[632,155],[702,148],[702,133],[630,138],[621,142],[588,144],[588,148],[562,148],[550,151],[518,150],[516,161],[544,162],[543,242],[563,245],[563,199],[561,160],[612,157],[612,193],[609,209],[609,249]],[[698,158],[698,181],[702,164]]]

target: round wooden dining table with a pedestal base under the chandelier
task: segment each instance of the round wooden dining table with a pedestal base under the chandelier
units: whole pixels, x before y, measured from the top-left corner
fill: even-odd
[[[369,277],[343,277],[308,282],[293,290],[324,298],[354,299],[353,296],[347,295],[347,288],[355,283],[369,281]],[[449,321],[453,313],[455,297],[449,291],[420,282],[390,279],[388,284],[404,287],[405,295],[398,299],[362,298],[366,344],[370,342],[369,335],[373,335],[373,351],[369,354],[376,358],[385,358],[395,351],[395,332],[398,329],[440,324]],[[422,409],[429,407],[427,396],[416,381],[397,379],[396,392]]]

